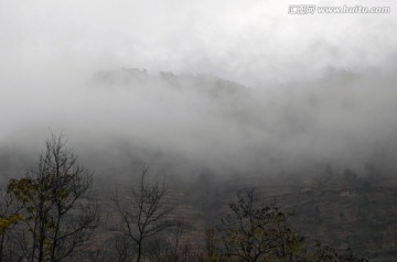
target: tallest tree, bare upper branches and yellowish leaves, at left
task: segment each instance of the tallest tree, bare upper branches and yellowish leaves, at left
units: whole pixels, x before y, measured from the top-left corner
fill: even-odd
[[[22,205],[30,236],[26,259],[62,261],[84,244],[98,226],[92,184],[92,174],[78,164],[62,134],[46,141],[35,168],[10,181],[8,192]]]

